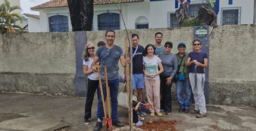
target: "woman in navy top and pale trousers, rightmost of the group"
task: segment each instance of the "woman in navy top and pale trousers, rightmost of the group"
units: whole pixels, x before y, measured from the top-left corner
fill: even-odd
[[[206,106],[204,97],[204,69],[208,67],[208,56],[204,51],[201,51],[201,41],[193,40],[193,49],[189,53],[186,66],[190,66],[189,80],[192,92],[195,99],[195,109],[191,114],[197,114],[196,118],[206,117]]]

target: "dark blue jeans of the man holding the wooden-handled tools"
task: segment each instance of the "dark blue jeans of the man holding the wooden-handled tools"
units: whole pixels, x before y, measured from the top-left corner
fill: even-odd
[[[110,90],[110,99],[111,99],[111,117],[112,120],[117,119],[117,94],[118,94],[118,88],[119,88],[119,79],[114,79],[114,80],[108,80],[109,82],[109,90]],[[106,101],[106,81],[101,80],[102,83],[102,90],[104,93],[104,100]],[[101,93],[100,93],[100,87],[99,89],[99,101],[98,101],[98,109],[97,109],[97,118],[103,119],[104,117],[104,111],[103,111],[103,106],[102,106],[102,99],[101,99]],[[107,102],[106,102],[106,107],[107,107]]]

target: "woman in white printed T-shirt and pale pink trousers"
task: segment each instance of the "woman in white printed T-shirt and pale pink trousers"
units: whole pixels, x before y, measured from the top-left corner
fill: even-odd
[[[152,105],[150,116],[154,117],[155,113],[161,117],[160,113],[160,77],[159,74],[164,71],[159,57],[155,56],[155,47],[149,44],[145,48],[143,57],[143,72],[145,79],[145,88],[147,92],[147,101]],[[158,67],[160,70],[158,70]]]

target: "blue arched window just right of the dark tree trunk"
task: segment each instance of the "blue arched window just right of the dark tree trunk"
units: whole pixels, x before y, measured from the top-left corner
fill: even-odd
[[[120,14],[117,13],[102,13],[98,16],[98,30],[119,30],[120,29]]]

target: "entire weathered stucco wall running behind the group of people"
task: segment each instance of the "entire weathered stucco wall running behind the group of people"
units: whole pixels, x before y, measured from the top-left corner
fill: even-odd
[[[128,30],[140,36],[140,44],[154,44],[155,33],[179,41],[192,50],[193,28]],[[256,106],[255,25],[210,27],[209,103]],[[87,42],[105,41],[105,31],[86,32]],[[125,30],[116,31],[115,44],[124,49]],[[0,35],[0,91],[75,95],[75,33],[27,33]],[[120,72],[123,70],[121,65]],[[122,90],[123,85],[120,87]],[[176,101],[175,85],[172,87]]]

